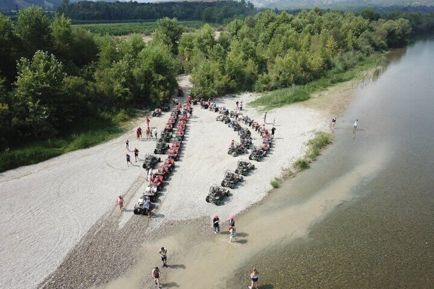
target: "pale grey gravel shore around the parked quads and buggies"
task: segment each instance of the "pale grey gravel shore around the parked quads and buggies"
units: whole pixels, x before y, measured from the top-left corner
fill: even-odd
[[[180,79],[180,85],[188,92],[190,84],[186,77]],[[306,153],[306,143],[313,138],[315,131],[330,129],[331,114],[338,113],[336,108],[331,108],[331,103],[337,101],[338,106],[342,106],[348,95],[351,95],[351,88],[340,86],[335,92],[317,95],[306,103],[270,110],[267,126],[271,127],[273,119],[276,126],[272,151],[261,162],[254,162],[257,169],[232,190],[233,195],[222,206],[205,202],[209,187],[219,184],[225,171],[235,169],[237,160],[247,159],[248,155],[237,158],[228,155],[227,147],[232,139],[238,140],[237,132],[222,122],[216,122],[217,114],[199,106],[194,107],[193,118],[188,124],[176,172],[164,187],[159,203],[155,204],[156,218],[135,216],[131,211],[142,192],[145,171],[141,162],[134,162],[134,156],[135,166],[126,166],[124,140],[131,140],[130,149],[137,147],[140,157],[154,150],[155,141],[135,140],[136,125],[146,126],[143,119],[127,134],[110,142],[0,174],[0,192],[5,208],[8,208],[0,212],[0,258],[3,260],[0,264],[0,286],[35,287],[47,276],[52,276],[46,280],[47,287],[50,284],[51,287],[58,284],[68,284],[63,287],[101,284],[119,276],[122,271],[109,274],[106,278],[86,277],[78,269],[90,266],[89,256],[111,256],[113,252],[110,250],[116,250],[119,243],[125,242],[122,247],[128,250],[125,260],[107,263],[116,268],[120,262],[122,270],[127,270],[129,264],[134,262],[127,260],[128,257],[140,246],[135,238],[145,237],[167,224],[206,219],[215,213],[226,217],[245,210],[267,195],[273,177],[279,177],[283,169],[291,167]],[[256,97],[250,93],[235,98],[225,97],[218,99],[218,105],[232,109],[237,99],[242,100],[244,115],[262,121],[264,112],[248,105]],[[326,104],[327,108],[318,109],[318,101]],[[168,117],[169,113],[165,113],[151,118],[150,126],[160,131]],[[259,144],[254,131],[252,136],[253,143]],[[129,154],[133,155],[132,152]],[[163,155],[161,157],[164,158]],[[126,198],[126,212],[116,210],[118,194]],[[110,230],[105,231],[106,228]],[[92,236],[99,237],[92,239]],[[101,250],[101,253],[101,239],[106,242],[106,248],[113,248]],[[80,254],[83,259],[74,257]],[[104,260],[104,257],[100,258]],[[98,265],[99,262],[94,264],[95,271],[101,270]],[[82,276],[81,283],[62,283],[62,278],[67,280],[69,275],[74,275],[71,273],[74,266],[77,269],[75,274]],[[56,269],[58,273],[53,275]]]

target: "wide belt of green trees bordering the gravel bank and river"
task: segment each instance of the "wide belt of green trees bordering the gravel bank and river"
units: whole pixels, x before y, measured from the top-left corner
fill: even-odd
[[[216,38],[207,24],[184,33],[177,19],[162,18],[145,43],[137,34],[94,35],[63,15],[50,20],[41,8],[20,10],[16,23],[0,14],[0,143],[6,149],[48,140],[90,119],[158,106],[176,90],[180,72],[191,73],[198,97],[305,84],[405,45],[412,25],[432,31],[433,19],[383,19],[369,9],[267,10],[231,21]]]

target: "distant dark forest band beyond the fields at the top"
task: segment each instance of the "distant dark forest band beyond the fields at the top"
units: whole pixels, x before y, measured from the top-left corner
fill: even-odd
[[[58,7],[58,12],[74,20],[142,20],[151,21],[163,17],[178,20],[203,20],[223,23],[235,17],[254,15],[256,9],[250,2],[93,2],[81,1]]]

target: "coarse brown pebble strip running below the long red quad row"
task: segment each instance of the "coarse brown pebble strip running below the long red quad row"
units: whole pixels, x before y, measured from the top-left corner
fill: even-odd
[[[136,189],[131,187],[132,191]],[[125,213],[133,216],[119,228]],[[133,212],[120,213],[117,208],[107,211],[39,287],[84,288],[123,275],[136,262],[136,253],[149,236],[145,228],[151,220]]]

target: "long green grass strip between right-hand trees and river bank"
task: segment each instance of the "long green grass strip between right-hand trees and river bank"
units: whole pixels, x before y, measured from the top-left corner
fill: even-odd
[[[262,106],[262,110],[269,110],[295,102],[306,101],[311,98],[313,93],[322,91],[336,83],[364,77],[364,72],[384,65],[385,61],[386,59],[381,54],[373,54],[344,72],[338,69],[327,71],[323,77],[306,85],[293,85],[269,92],[250,102],[249,105]]]

